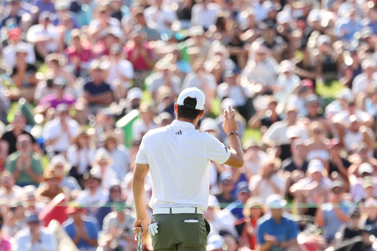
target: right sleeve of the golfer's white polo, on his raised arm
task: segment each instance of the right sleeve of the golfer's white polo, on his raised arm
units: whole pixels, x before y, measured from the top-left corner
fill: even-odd
[[[218,139],[208,135],[205,155],[207,159],[216,161],[218,164],[224,164],[230,157],[230,150]]]

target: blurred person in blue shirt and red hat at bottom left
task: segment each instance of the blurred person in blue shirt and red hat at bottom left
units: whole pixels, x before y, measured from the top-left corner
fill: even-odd
[[[94,251],[97,248],[99,227],[90,217],[86,217],[84,209],[79,206],[66,208],[69,219],[63,222],[62,227],[73,240],[77,248]]]

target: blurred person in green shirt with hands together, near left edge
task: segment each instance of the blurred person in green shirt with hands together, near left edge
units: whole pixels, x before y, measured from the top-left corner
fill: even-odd
[[[13,173],[16,185],[38,185],[43,171],[40,159],[32,152],[30,136],[18,136],[16,149],[16,152],[9,155],[6,169]]]

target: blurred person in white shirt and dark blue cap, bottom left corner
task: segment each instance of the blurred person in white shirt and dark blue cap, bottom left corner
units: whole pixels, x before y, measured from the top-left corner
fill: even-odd
[[[41,226],[38,216],[32,214],[26,217],[28,227],[21,230],[15,235],[16,251],[23,251],[25,248],[29,250],[58,250],[56,237],[50,233],[47,228]]]

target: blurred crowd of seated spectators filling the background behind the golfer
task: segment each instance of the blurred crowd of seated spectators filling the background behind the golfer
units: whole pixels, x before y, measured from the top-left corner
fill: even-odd
[[[377,250],[375,0],[0,0],[0,20],[1,251],[68,250],[52,219],[136,250],[136,153],[186,87],[196,129],[228,145],[230,105],[244,143],[244,167],[208,167],[207,251]]]

